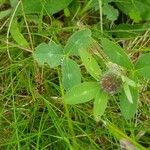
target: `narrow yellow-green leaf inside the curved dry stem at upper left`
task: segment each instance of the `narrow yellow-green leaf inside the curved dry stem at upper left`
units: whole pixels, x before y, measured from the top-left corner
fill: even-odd
[[[23,46],[23,47],[29,47],[29,43],[26,41],[26,39],[22,35],[19,29],[19,24],[16,19],[12,21],[10,33],[11,33],[12,38],[17,42],[18,45]]]

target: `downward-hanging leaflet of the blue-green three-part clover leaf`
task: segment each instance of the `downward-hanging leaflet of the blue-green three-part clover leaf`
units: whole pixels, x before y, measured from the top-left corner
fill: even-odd
[[[62,64],[62,83],[66,90],[81,83],[81,71],[78,64],[71,59],[64,59]]]

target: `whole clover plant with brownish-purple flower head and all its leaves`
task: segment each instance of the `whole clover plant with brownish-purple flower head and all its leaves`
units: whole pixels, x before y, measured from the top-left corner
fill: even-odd
[[[105,63],[107,67],[102,69],[89,50],[93,41],[90,29],[84,28],[76,31],[64,48],[53,41],[41,43],[33,56],[40,65],[47,63],[51,68],[61,66],[62,85],[66,91],[64,101],[67,104],[80,104],[93,99],[93,114],[99,121],[108,100],[117,94],[123,116],[125,119],[133,118],[137,111],[140,77],[150,79],[150,54],[140,56],[134,64],[124,49],[102,37],[100,45],[108,60]],[[72,56],[81,58],[95,81],[82,82],[80,67]]]

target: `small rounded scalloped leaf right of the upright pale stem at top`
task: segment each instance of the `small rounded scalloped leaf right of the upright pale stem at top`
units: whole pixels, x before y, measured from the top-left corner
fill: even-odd
[[[110,21],[115,21],[119,16],[118,10],[109,4],[104,4],[103,14],[106,15],[107,19]]]

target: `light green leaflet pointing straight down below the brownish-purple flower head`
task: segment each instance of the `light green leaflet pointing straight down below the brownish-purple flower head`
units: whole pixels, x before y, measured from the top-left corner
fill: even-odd
[[[100,121],[101,116],[104,114],[104,111],[107,107],[108,94],[104,92],[98,92],[94,100],[94,118],[96,121]]]

